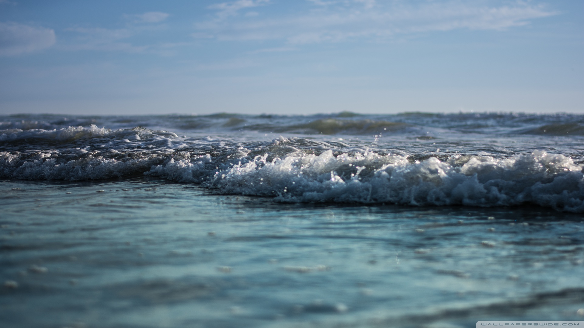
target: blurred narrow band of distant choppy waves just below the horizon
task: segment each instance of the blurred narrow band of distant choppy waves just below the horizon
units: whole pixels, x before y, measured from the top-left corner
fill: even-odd
[[[229,133],[259,131],[304,135],[419,134],[439,130],[451,134],[538,134],[584,135],[584,115],[521,113],[401,113],[356,114],[348,111],[311,116],[258,116],[217,113],[211,115],[164,116],[58,116],[20,114],[0,116],[0,130],[23,131],[61,128],[89,128],[91,125],[113,130],[142,126],[151,130]]]

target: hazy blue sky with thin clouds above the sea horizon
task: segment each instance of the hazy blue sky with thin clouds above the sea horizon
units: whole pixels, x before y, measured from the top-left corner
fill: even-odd
[[[0,0],[0,114],[584,113],[584,1]]]

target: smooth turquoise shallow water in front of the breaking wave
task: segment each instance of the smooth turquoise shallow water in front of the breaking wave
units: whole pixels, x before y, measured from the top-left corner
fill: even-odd
[[[0,195],[0,277],[18,284],[0,288],[3,327],[471,327],[584,308],[580,214],[283,204],[151,177]]]

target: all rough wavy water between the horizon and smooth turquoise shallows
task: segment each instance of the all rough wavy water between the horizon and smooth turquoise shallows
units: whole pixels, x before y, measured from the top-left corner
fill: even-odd
[[[584,212],[584,116],[9,116],[0,177],[137,175],[295,202]]]

